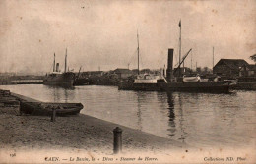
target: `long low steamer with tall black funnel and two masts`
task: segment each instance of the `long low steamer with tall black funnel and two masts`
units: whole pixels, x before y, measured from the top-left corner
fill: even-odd
[[[179,23],[181,30],[181,22]],[[181,33],[181,32],[180,32]],[[119,82],[118,89],[120,90],[144,90],[144,91],[186,91],[186,92],[211,92],[211,93],[228,93],[229,84],[228,82],[205,82],[205,81],[194,81],[188,82],[186,78],[181,77],[180,73],[177,77],[174,77],[173,73],[177,70],[180,71],[180,66],[190,53],[190,49],[182,58],[182,61],[179,61],[178,67],[175,71],[172,70],[173,66],[173,51],[174,49],[168,49],[168,62],[167,62],[167,75],[166,79],[163,76],[154,77],[154,78],[140,78],[139,75],[139,36],[137,33],[138,39],[138,76],[135,80],[130,82]],[[181,49],[181,35],[180,35],[180,49]],[[180,55],[179,50],[179,55]],[[180,57],[179,57],[180,59]]]

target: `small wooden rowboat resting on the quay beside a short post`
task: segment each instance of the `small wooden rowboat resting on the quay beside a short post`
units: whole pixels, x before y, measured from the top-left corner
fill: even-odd
[[[50,116],[56,110],[57,116],[76,115],[83,109],[81,103],[53,103],[21,101],[22,113],[39,116]]]

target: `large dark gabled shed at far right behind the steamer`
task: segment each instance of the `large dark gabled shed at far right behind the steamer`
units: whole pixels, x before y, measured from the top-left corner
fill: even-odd
[[[249,65],[243,59],[221,59],[213,69],[214,74],[234,78],[239,76],[240,68]]]

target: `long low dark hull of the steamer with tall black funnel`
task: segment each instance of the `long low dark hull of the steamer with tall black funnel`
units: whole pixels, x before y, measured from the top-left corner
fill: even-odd
[[[133,83],[121,82],[119,90],[167,91],[167,92],[205,92],[228,93],[229,85],[224,82],[169,82],[169,83]]]

